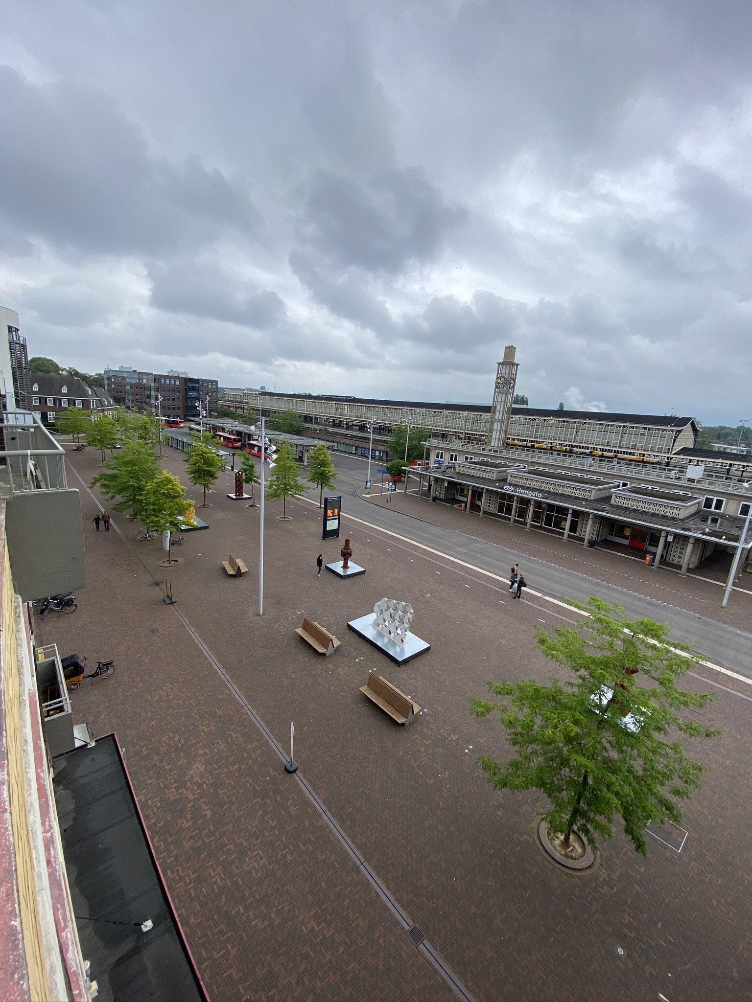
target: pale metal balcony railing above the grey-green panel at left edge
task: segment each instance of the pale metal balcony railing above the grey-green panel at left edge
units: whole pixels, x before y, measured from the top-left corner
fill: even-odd
[[[30,411],[0,413],[0,497],[65,490],[65,450]]]

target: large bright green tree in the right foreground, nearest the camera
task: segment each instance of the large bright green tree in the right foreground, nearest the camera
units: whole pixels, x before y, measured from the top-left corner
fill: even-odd
[[[543,820],[565,852],[576,828],[595,850],[599,837],[611,838],[619,815],[645,856],[646,827],[666,820],[678,825],[672,798],[687,798],[700,784],[703,767],[685,757],[675,734],[717,735],[686,718],[712,695],[677,687],[693,662],[675,652],[689,651],[687,645],[668,646],[667,626],[627,620],[621,606],[596,596],[587,606],[571,604],[587,609],[588,618],[552,633],[538,629],[537,646],[573,676],[552,677],[548,685],[487,682],[510,701],[472,700],[476,716],[498,710],[516,752],[505,765],[483,756],[480,766],[496,789],[545,794],[550,806]]]

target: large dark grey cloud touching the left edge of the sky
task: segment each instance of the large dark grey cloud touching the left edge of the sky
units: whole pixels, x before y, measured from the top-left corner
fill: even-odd
[[[63,247],[156,253],[258,226],[240,177],[197,156],[153,158],[138,125],[92,87],[34,86],[0,66],[0,213]]]

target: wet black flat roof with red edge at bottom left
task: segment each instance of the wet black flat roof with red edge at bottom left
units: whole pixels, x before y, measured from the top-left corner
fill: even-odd
[[[78,938],[99,997],[205,1002],[115,735],[57,756],[52,785]]]

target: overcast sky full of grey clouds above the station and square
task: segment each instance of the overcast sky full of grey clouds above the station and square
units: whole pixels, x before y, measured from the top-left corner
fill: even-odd
[[[752,419],[752,3],[6,0],[0,304],[222,385]]]

